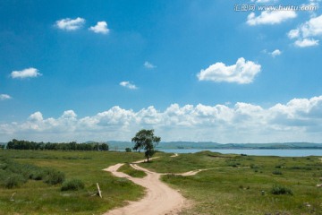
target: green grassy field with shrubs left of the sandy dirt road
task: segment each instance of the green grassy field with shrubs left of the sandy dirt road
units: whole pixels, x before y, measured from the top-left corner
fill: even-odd
[[[142,158],[140,153],[114,151],[55,151],[55,150],[0,150],[0,172],[8,167],[20,169],[18,186],[0,186],[0,214],[102,214],[124,201],[140,199],[144,189],[125,178],[116,178],[103,171],[120,162]],[[9,164],[11,167],[12,164]],[[23,168],[21,168],[23,167]],[[23,170],[28,167],[24,176]],[[43,175],[47,169],[50,173]],[[22,173],[22,174],[20,174]],[[30,174],[32,173],[32,174]],[[60,174],[64,174],[63,184]],[[1,174],[1,182],[11,173]],[[48,182],[47,182],[47,179]],[[15,180],[15,179],[14,179]],[[102,190],[99,198],[96,183]],[[10,183],[9,183],[10,184]],[[64,188],[63,188],[64,187]],[[64,191],[62,191],[64,190]]]

